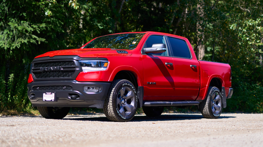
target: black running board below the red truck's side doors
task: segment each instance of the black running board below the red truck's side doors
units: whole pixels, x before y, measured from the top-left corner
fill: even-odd
[[[199,105],[199,101],[144,101],[143,106],[188,106]]]

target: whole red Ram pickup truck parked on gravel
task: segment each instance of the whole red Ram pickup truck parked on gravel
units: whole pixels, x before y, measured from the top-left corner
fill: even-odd
[[[164,106],[187,105],[218,118],[233,93],[229,64],[197,60],[187,38],[160,32],[106,35],[80,49],[39,55],[27,86],[45,118],[86,107],[119,122],[130,121],[137,108],[156,117]]]

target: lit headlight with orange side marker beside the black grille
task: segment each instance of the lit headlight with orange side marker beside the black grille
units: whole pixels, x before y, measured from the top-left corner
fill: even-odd
[[[108,66],[107,60],[80,60],[79,63],[83,71],[106,70]]]

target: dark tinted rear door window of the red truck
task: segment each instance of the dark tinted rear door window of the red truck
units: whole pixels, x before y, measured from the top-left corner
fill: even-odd
[[[168,37],[171,44],[172,56],[180,58],[191,58],[189,48],[184,40]]]

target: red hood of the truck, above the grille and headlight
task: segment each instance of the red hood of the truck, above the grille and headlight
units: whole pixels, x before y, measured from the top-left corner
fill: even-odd
[[[118,53],[117,51],[126,51],[126,53]],[[122,49],[110,49],[110,48],[79,48],[79,49],[64,49],[64,50],[55,50],[51,52],[44,53],[42,55],[36,56],[39,57],[53,57],[53,56],[62,56],[62,55],[77,55],[80,57],[105,57],[105,56],[125,56],[131,55],[131,50],[122,50]]]

